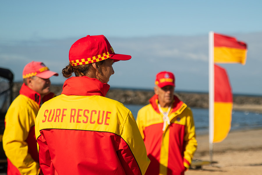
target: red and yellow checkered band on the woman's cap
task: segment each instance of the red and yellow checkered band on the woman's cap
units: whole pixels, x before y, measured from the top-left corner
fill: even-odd
[[[105,60],[105,59],[107,59],[107,58],[109,58],[111,56],[112,56],[112,54],[107,52],[107,53],[103,53],[103,54],[97,55],[97,56],[92,57],[92,58],[83,58],[83,59],[79,59],[79,60],[71,60],[70,64],[72,66],[91,64],[91,63],[95,63],[95,62],[99,62],[99,61]]]

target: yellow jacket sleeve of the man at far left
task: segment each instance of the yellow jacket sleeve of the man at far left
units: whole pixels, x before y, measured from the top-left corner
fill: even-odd
[[[6,157],[20,171],[20,174],[39,174],[39,164],[28,153],[26,139],[34,124],[27,108],[13,107],[6,114],[3,134],[3,149]],[[19,156],[18,156],[19,155]]]

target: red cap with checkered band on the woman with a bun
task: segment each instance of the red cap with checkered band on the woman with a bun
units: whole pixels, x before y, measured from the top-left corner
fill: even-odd
[[[77,40],[69,50],[69,61],[72,66],[99,62],[107,58],[117,62],[119,60],[130,60],[131,56],[114,53],[104,35],[87,35]]]

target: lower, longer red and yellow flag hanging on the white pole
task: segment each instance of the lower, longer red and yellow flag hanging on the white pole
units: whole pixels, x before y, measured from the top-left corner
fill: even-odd
[[[214,64],[214,138],[223,141],[231,128],[233,97],[226,70]]]

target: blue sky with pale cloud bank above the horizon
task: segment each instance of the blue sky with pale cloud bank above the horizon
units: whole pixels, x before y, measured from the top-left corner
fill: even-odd
[[[70,46],[104,34],[116,53],[111,87],[153,88],[155,74],[176,76],[176,90],[208,91],[208,32],[248,44],[247,64],[223,64],[233,93],[262,95],[262,1],[1,1],[0,60],[20,81],[28,62],[61,72]],[[63,83],[61,76],[52,83]]]

